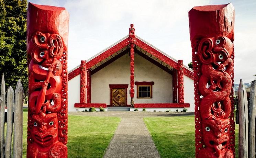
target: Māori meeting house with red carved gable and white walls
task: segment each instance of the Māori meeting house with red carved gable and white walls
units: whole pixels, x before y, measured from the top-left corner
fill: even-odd
[[[133,24],[129,35],[69,71],[68,89],[68,111],[194,111],[193,70],[135,36]]]

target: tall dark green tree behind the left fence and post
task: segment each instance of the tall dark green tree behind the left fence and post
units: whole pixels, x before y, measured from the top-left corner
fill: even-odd
[[[18,79],[28,93],[26,53],[26,0],[0,0],[0,76],[15,90]]]

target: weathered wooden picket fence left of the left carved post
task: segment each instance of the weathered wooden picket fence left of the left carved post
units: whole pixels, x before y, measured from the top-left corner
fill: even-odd
[[[23,88],[21,81],[18,80],[15,92],[10,86],[7,90],[7,106],[5,104],[5,81],[2,76],[0,84],[0,156],[1,158],[22,157],[22,133],[23,133]],[[15,102],[14,102],[15,95]],[[6,110],[7,108],[7,110]],[[5,120],[5,111],[7,111],[7,119]],[[7,122],[6,137],[4,139],[4,126]],[[12,131],[13,134],[13,154]]]

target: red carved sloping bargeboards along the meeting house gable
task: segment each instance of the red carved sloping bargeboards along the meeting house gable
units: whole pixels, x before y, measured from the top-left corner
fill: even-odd
[[[138,47],[144,49],[149,54],[152,54],[153,56],[157,57],[158,59],[164,61],[166,64],[170,65],[174,69],[178,68],[177,61],[175,61],[175,60],[169,58],[168,56],[166,56],[165,54],[159,52],[159,50],[153,48],[152,46],[148,45],[147,43],[140,40],[139,38],[136,38],[136,42],[134,44],[137,45]],[[94,57],[93,59],[89,60],[88,63],[86,63],[87,64],[86,69],[90,69],[92,66],[96,65],[97,63],[104,60],[105,58],[113,55],[114,53],[116,53],[120,49],[126,47],[127,45],[129,45],[129,37],[125,38],[120,43],[118,43],[118,44],[114,45],[113,47],[107,49],[105,52],[99,54],[98,56]],[[112,61],[114,61],[114,60],[112,60]],[[80,66],[78,68],[76,68],[75,70],[69,72],[68,80],[71,80],[72,78],[76,77],[79,74],[80,74]],[[184,67],[184,75],[193,79],[193,71],[191,71],[190,69],[188,69],[186,67]]]

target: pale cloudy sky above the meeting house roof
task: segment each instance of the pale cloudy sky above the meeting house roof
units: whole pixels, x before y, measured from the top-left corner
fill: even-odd
[[[28,0],[65,7],[70,14],[68,70],[129,34],[135,34],[187,65],[192,61],[188,11],[194,6],[227,4],[235,8],[234,83],[256,74],[256,0]]]

